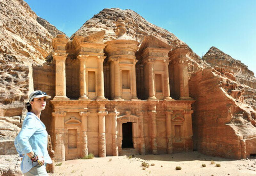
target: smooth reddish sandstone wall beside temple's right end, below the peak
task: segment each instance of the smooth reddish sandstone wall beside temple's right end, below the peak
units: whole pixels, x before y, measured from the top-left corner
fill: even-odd
[[[255,111],[239,100],[236,82],[208,68],[193,74],[189,86],[196,100],[192,105],[194,149],[227,158],[255,154]]]

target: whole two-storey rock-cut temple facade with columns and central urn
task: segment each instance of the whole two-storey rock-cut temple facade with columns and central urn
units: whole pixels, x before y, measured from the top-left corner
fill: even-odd
[[[139,47],[121,19],[115,32],[106,43],[105,31],[53,39],[55,161],[193,150],[189,49],[154,36]]]

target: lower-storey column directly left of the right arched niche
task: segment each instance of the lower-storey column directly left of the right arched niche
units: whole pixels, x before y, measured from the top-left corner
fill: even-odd
[[[166,116],[166,142],[167,142],[167,153],[172,153],[172,111],[168,110],[165,112]]]

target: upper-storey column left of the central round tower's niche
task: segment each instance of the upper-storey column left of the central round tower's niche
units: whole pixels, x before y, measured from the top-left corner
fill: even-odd
[[[114,64],[115,64],[115,98],[114,100],[122,100],[119,60],[114,60]]]

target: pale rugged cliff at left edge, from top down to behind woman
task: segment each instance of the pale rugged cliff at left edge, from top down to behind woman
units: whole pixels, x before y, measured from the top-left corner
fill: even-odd
[[[31,65],[42,65],[52,52],[52,38],[64,33],[23,0],[0,2],[0,30],[0,116],[21,116],[33,90]]]

